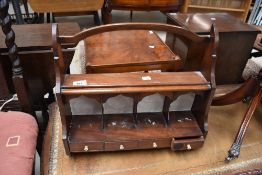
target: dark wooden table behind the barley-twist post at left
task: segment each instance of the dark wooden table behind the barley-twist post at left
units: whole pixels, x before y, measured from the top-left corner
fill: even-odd
[[[8,45],[11,49],[5,46],[5,35],[0,32],[0,105],[5,103],[14,94],[17,93],[18,100],[8,103],[4,107],[4,111],[21,110],[35,116],[35,111],[42,112],[41,125],[39,125],[39,150],[41,150],[42,137],[45,133],[45,128],[48,122],[47,105],[54,101],[53,87],[55,86],[54,61],[51,50],[51,25],[50,24],[31,24],[31,25],[14,25],[14,32],[7,34],[7,40],[12,41],[12,35],[16,33],[17,46]],[[64,34],[74,34],[80,31],[78,24],[67,23],[59,24],[59,28]],[[9,31],[4,31],[5,33]],[[30,35],[30,36],[29,36]],[[12,37],[11,37],[12,36]],[[63,48],[72,48],[74,44],[63,46]],[[12,68],[12,64],[17,64],[17,61],[12,61],[8,57],[8,51],[16,53],[18,48],[19,64],[23,67],[23,83],[24,88],[17,85],[14,81],[21,78],[21,69]],[[69,65],[70,59],[74,54],[74,50],[64,49],[64,54]],[[12,72],[16,70],[19,74]],[[18,87],[17,87],[18,86]],[[24,92],[21,92],[24,91]],[[44,98],[44,95],[49,93],[49,98]],[[21,95],[22,94],[22,95]],[[39,151],[41,153],[41,151]]]

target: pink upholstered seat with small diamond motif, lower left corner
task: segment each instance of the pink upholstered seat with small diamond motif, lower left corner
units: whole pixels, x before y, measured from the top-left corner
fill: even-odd
[[[37,144],[36,120],[22,112],[0,112],[0,174],[32,174]]]

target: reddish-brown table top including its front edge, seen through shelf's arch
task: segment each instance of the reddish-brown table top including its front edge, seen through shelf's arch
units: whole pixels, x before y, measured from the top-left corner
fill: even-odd
[[[117,52],[116,52],[117,51]],[[180,58],[153,31],[113,31],[85,39],[88,73],[178,70]]]

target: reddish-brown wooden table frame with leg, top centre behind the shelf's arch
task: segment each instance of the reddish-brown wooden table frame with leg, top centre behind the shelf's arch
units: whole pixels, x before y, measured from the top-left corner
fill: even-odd
[[[112,10],[178,12],[184,0],[105,0],[102,19],[105,24],[112,23]]]

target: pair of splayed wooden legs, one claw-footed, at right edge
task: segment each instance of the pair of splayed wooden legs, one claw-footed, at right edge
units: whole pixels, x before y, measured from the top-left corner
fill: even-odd
[[[228,157],[226,161],[231,161],[240,155],[240,148],[250,123],[250,120],[254,114],[257,105],[260,103],[262,97],[262,71],[259,72],[257,76],[251,76],[246,82],[240,86],[238,89],[229,92],[225,95],[215,97],[212,101],[212,105],[220,106],[220,105],[228,105],[232,103],[236,103],[241,101],[244,98],[251,97],[251,102],[249,107],[244,115],[243,121],[239,128],[239,131],[235,137],[235,140],[228,151]]]

